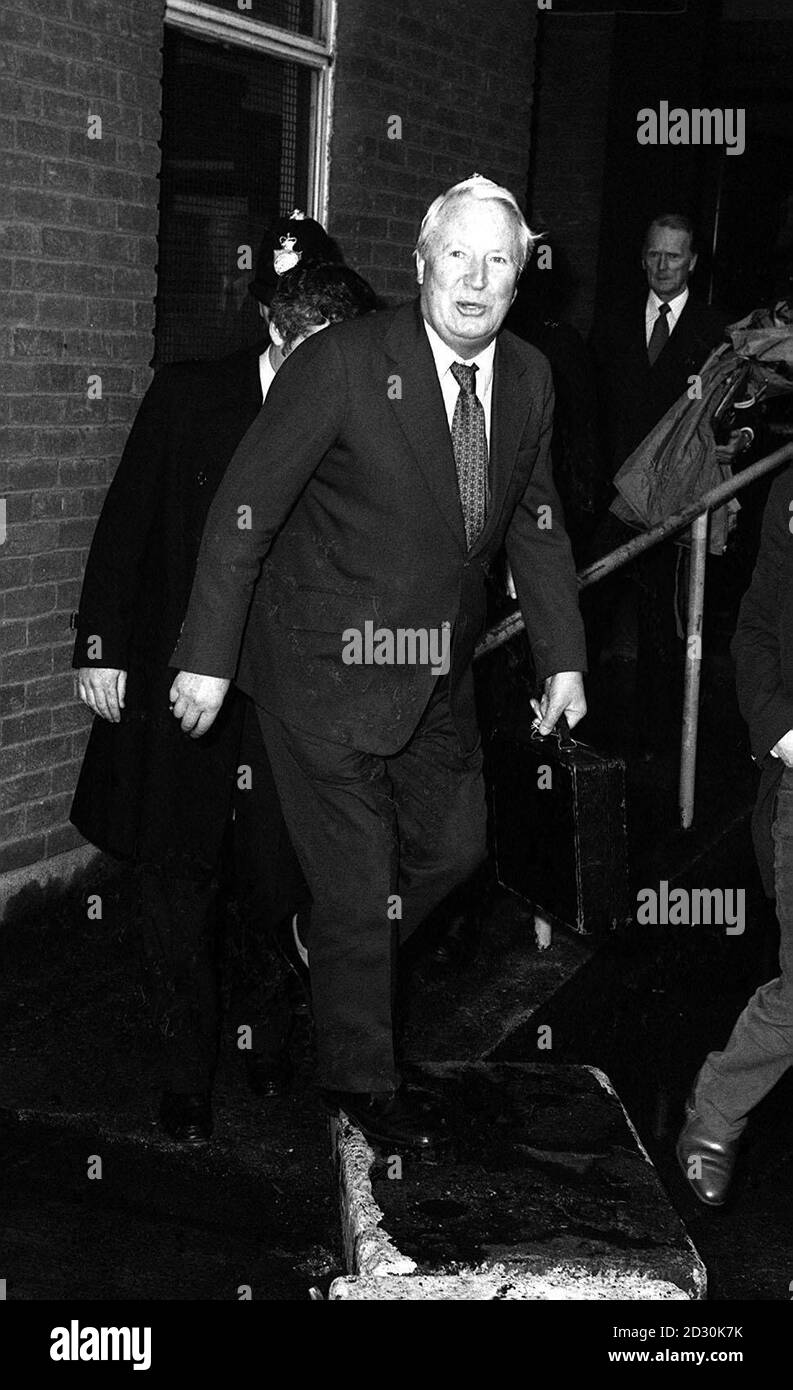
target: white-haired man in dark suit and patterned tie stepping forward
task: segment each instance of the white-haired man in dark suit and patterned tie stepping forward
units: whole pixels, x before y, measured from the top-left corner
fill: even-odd
[[[399,1084],[394,951],[485,855],[471,659],[504,539],[543,730],[586,708],[550,371],[499,335],[529,243],[475,175],[422,222],[419,300],[286,364],[207,518],[174,653],[185,730],[212,726],[237,662],[258,706],[312,897],[319,1083],[385,1144],[435,1137]]]

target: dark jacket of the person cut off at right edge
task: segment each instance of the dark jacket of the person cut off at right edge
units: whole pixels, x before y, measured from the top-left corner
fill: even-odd
[[[765,514],[757,564],[743,595],[732,639],[737,702],[749,724],[751,752],[761,769],[753,817],[754,848],[762,881],[774,895],[771,826],[783,763],[774,745],[793,728],[793,468],[775,480]]]

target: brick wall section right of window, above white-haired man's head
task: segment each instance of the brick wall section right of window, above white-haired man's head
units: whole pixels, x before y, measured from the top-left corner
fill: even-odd
[[[486,174],[524,202],[536,22],[529,0],[342,0],[329,228],[389,299],[415,293],[418,225],[450,183]]]

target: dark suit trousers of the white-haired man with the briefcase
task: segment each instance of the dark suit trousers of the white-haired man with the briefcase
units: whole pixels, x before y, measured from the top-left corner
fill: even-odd
[[[408,744],[389,758],[258,713],[314,903],[308,955],[319,1086],[389,1091],[399,1084],[397,947],[485,858],[481,748],[462,752],[444,677]]]

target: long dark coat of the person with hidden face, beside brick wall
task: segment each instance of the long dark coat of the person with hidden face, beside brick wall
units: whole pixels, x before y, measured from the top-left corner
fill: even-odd
[[[128,671],[119,724],[93,721],[71,819],[121,858],[189,877],[214,867],[235,785],[243,701],[203,739],[168,708],[168,659],[187,606],[207,510],[261,406],[258,354],[162,367],[108,489],[87,560],[74,666]],[[90,657],[89,638],[101,638]]]

